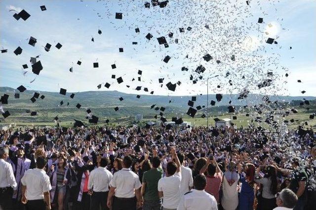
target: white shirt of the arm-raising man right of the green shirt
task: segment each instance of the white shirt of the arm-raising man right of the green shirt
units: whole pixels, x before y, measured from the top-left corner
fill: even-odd
[[[181,173],[165,176],[158,181],[158,191],[163,192],[162,206],[166,209],[176,209],[180,201]]]

